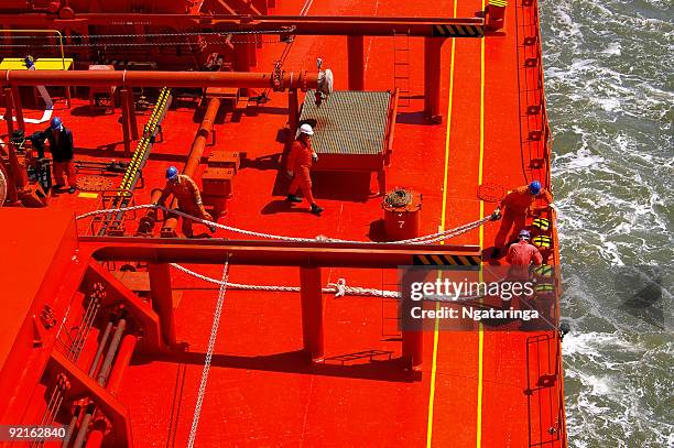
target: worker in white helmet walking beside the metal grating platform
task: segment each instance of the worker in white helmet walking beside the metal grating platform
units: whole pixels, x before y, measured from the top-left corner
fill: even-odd
[[[286,164],[287,175],[293,178],[293,182],[287,192],[286,200],[290,203],[302,203],[302,199],[296,196],[297,189],[302,189],[302,195],[312,206],[311,212],[320,215],[323,208],[314,203],[314,196],[312,195],[312,177],[309,174],[312,161],[318,162],[318,155],[312,147],[313,134],[314,129],[311,124],[302,124],[300,127],[300,136],[293,142]]]

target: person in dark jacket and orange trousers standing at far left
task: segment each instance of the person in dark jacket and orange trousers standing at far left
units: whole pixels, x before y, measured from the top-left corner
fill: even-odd
[[[54,117],[50,127],[42,132],[35,132],[30,136],[39,153],[44,151],[44,141],[50,142],[50,151],[53,159],[54,188],[65,188],[64,176],[68,181],[68,193],[75,193],[77,188],[77,173],[75,170],[73,132],[63,125],[61,118]]]

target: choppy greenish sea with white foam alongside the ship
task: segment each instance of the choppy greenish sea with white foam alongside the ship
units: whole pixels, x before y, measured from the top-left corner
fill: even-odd
[[[542,0],[541,21],[569,446],[674,447],[674,2]]]

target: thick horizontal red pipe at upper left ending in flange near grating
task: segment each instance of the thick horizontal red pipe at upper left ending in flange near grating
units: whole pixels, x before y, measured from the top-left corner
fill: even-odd
[[[250,87],[306,91],[318,86],[318,74],[286,72],[274,81],[273,73],[240,72],[128,72],[128,70],[0,70],[0,84],[9,86],[96,87]]]

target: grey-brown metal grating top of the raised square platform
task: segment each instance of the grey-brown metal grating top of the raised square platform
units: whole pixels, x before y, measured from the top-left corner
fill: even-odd
[[[316,121],[312,144],[318,154],[381,154],[390,101],[389,91],[340,90],[317,107],[309,90],[300,122]]]

